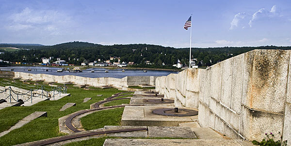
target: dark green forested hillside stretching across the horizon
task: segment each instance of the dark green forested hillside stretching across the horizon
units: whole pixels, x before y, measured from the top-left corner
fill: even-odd
[[[179,59],[183,65],[189,64],[189,48],[173,48],[152,44],[115,44],[101,45],[86,42],[68,42],[56,45],[11,45],[0,44],[0,47],[16,47],[15,52],[4,51],[0,59],[11,62],[23,61],[42,62],[41,58],[61,58],[67,63],[81,65],[81,62],[93,62],[110,57],[120,57],[120,61],[134,62],[133,67],[141,68],[173,68]],[[27,50],[28,49],[28,50]],[[254,49],[289,50],[290,46],[259,46],[259,47],[216,47],[192,48],[192,58],[198,66],[210,66],[227,58]],[[117,61],[117,60],[111,60]],[[188,65],[187,65],[188,66]]]

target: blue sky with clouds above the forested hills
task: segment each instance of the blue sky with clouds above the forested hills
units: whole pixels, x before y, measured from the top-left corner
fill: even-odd
[[[0,0],[0,43],[291,46],[291,0]]]

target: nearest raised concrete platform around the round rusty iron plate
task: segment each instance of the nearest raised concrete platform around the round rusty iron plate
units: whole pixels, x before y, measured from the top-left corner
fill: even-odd
[[[179,123],[194,122],[198,116],[172,117],[155,115],[155,109],[174,108],[170,106],[125,106],[121,125],[123,126],[179,126]],[[193,109],[197,110],[197,109]]]

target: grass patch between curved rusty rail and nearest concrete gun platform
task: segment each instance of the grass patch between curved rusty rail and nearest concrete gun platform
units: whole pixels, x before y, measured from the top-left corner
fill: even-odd
[[[104,126],[118,126],[121,123],[121,117],[124,108],[115,108],[102,110],[85,117],[81,117],[81,124],[85,130],[103,128]]]

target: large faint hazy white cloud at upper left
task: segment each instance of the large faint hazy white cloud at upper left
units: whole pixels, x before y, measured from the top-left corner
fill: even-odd
[[[30,30],[32,33],[44,35],[60,35],[61,31],[72,27],[71,17],[54,10],[34,10],[25,8],[21,12],[8,17],[8,30]]]

